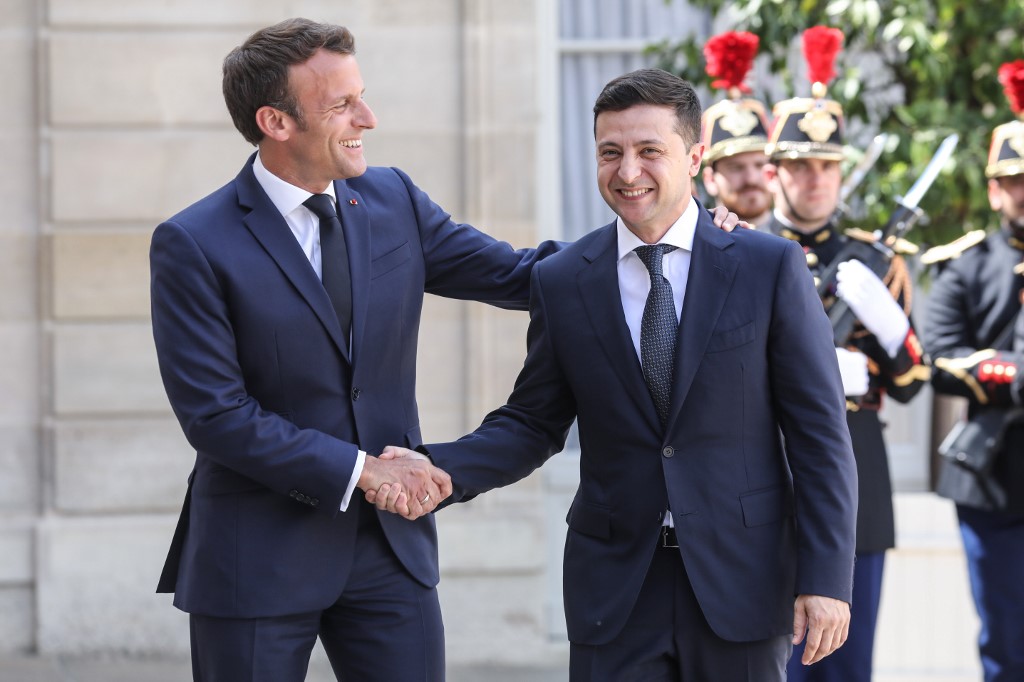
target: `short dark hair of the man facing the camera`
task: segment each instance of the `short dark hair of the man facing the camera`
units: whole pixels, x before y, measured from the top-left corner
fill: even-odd
[[[637,104],[671,106],[676,110],[676,132],[686,144],[700,139],[700,98],[688,81],[660,69],[639,69],[609,81],[594,102],[594,134],[599,114]]]

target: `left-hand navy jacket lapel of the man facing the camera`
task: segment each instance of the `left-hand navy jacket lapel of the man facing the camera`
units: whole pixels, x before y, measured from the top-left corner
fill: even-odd
[[[647,417],[651,427],[660,429],[654,401],[647,391],[640,360],[623,313],[623,298],[618,292],[615,223],[602,227],[601,232],[584,253],[585,264],[577,276],[580,300],[583,301],[608,365],[618,375],[626,393]]]

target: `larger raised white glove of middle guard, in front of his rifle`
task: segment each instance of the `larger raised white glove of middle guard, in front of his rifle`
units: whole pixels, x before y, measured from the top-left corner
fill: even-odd
[[[889,356],[895,357],[910,331],[910,321],[882,280],[859,260],[848,260],[837,268],[836,293]]]

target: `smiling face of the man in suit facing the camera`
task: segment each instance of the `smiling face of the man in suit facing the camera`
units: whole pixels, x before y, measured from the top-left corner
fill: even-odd
[[[595,121],[597,184],[630,230],[657,242],[686,210],[703,145],[684,140],[671,106],[637,104]]]

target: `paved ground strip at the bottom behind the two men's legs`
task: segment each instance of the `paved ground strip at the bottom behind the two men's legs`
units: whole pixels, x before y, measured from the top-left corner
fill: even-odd
[[[564,682],[563,668],[453,668],[447,682]],[[189,682],[191,669],[181,659],[122,659],[0,656],[2,682]],[[306,682],[335,682],[323,665],[310,667]]]

